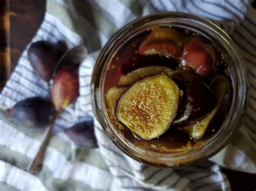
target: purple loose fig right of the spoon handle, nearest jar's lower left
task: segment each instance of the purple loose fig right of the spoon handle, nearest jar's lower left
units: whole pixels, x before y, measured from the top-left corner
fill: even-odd
[[[71,128],[64,130],[64,133],[78,146],[98,148],[93,121],[76,123]]]

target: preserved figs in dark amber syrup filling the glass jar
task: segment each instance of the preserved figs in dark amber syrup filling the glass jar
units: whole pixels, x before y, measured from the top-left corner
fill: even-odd
[[[224,69],[214,42],[179,28],[149,29],[120,46],[107,66],[107,117],[123,139],[144,150],[191,150],[224,119],[217,116],[224,116],[232,91]]]

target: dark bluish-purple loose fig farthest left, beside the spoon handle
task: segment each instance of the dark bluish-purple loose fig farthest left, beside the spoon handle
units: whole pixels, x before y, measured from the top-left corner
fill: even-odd
[[[16,123],[22,126],[43,128],[50,124],[54,110],[51,100],[43,97],[30,97],[17,102],[7,112]]]

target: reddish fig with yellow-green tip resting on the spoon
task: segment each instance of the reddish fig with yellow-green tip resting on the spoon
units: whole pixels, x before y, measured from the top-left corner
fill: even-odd
[[[52,102],[61,111],[76,101],[79,96],[78,66],[64,65],[53,77]]]

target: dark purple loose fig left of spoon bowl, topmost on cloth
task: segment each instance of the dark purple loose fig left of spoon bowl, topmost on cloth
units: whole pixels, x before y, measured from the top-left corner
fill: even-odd
[[[58,61],[65,53],[65,48],[50,41],[36,41],[28,49],[28,59],[35,73],[46,82],[52,79]]]

